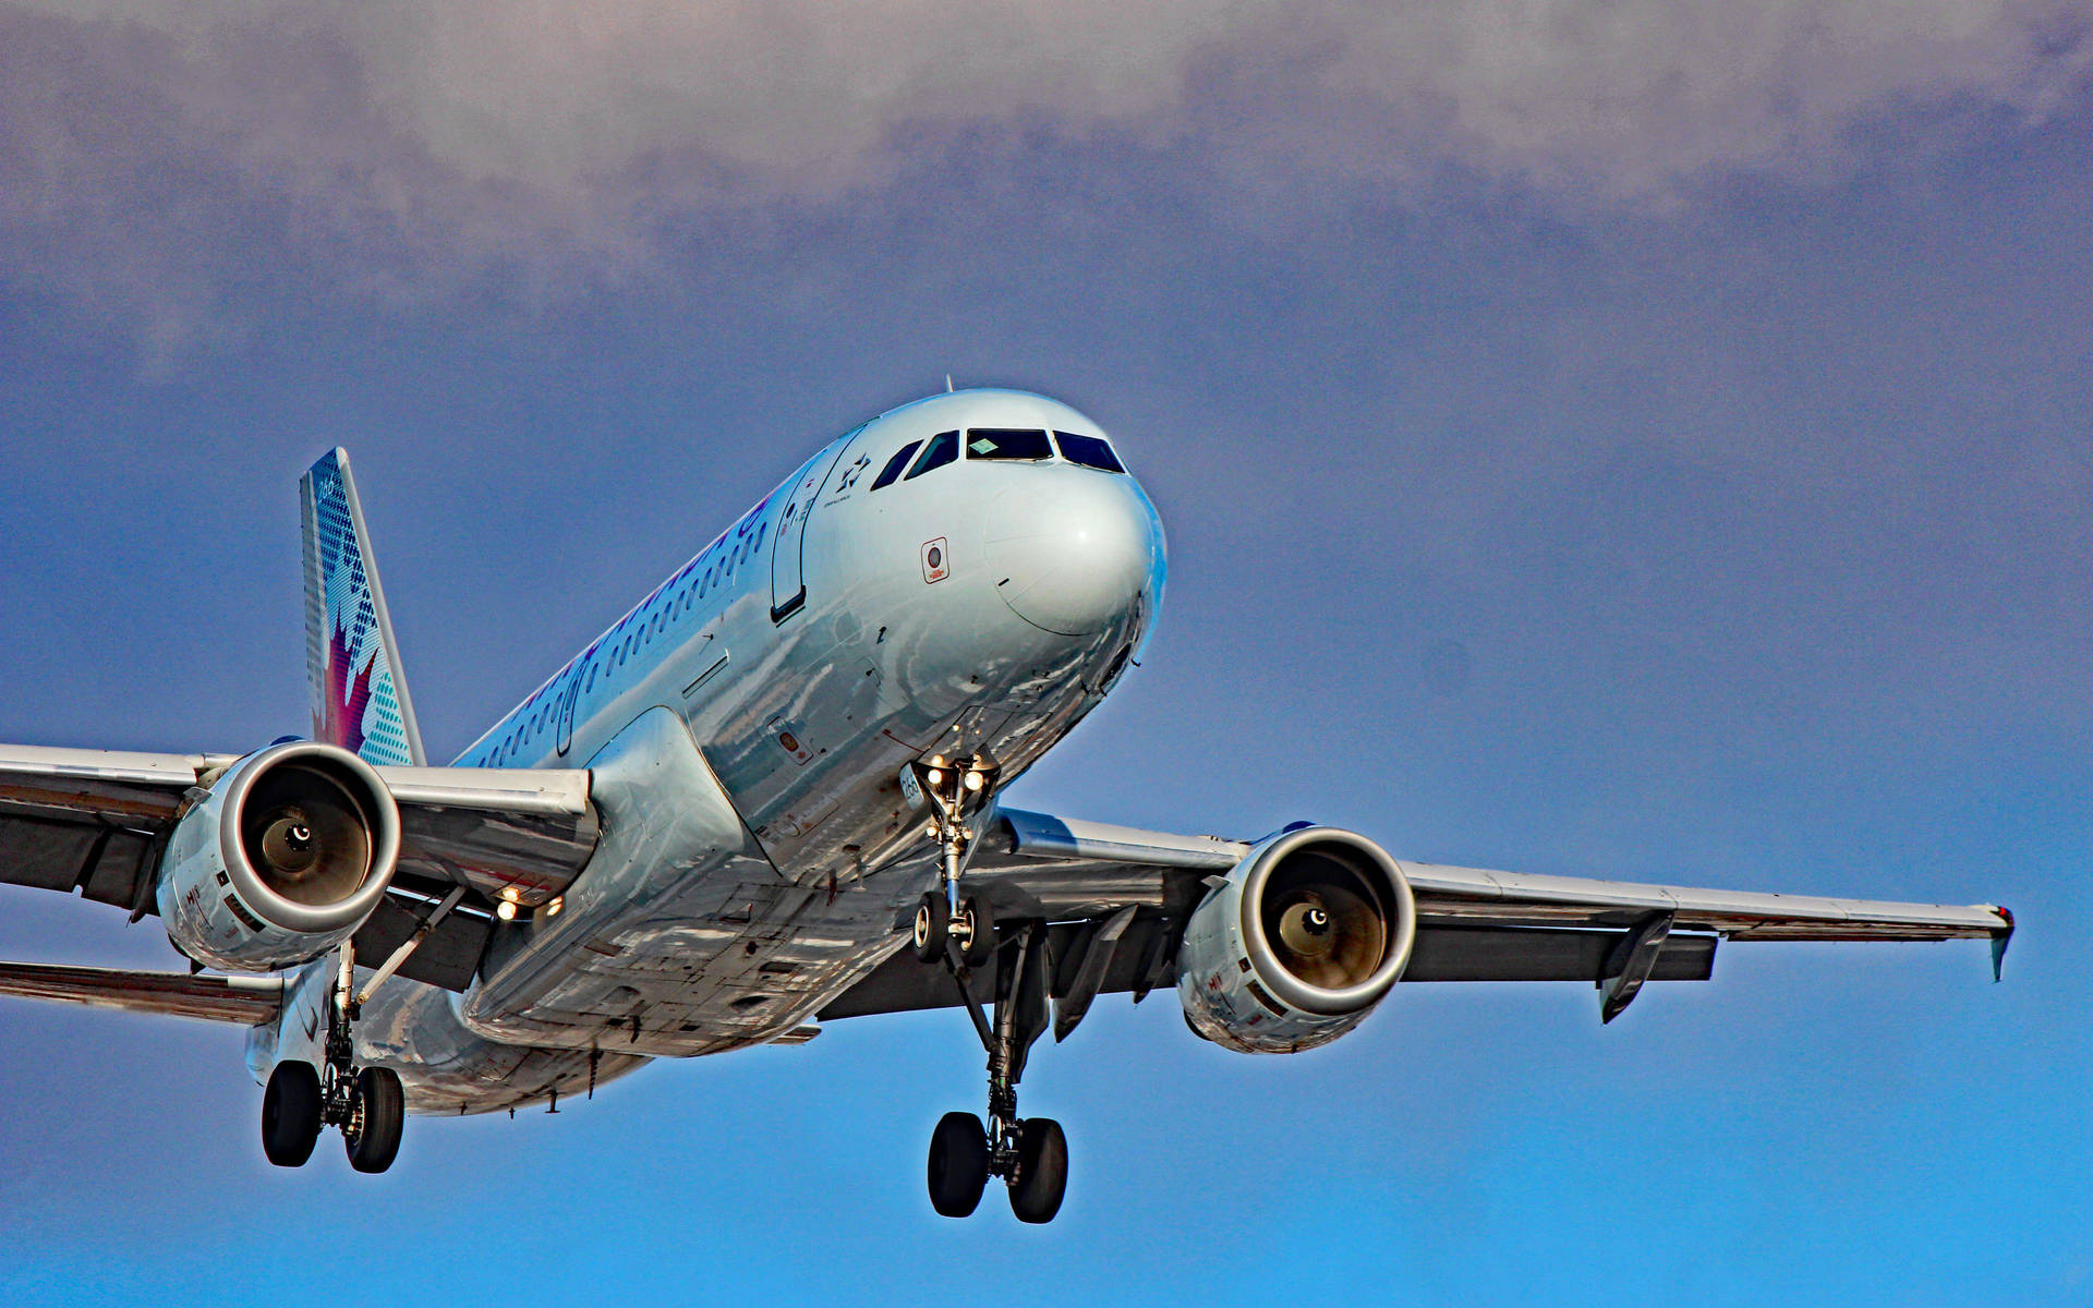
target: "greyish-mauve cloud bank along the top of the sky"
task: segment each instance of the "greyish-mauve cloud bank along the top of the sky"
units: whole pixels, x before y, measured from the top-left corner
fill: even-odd
[[[594,276],[645,264],[634,213],[837,197],[984,128],[1189,146],[1281,195],[1453,167],[1649,207],[1836,176],[1915,109],[2041,121],[2089,67],[2093,0],[25,0],[0,270],[98,249],[88,280],[151,280],[232,193],[387,293],[546,251]],[[149,297],[209,297],[184,268]]]

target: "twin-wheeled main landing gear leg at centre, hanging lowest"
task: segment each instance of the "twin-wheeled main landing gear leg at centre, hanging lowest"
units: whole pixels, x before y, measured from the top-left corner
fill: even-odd
[[[946,967],[988,1051],[988,1124],[973,1113],[946,1113],[929,1143],[929,1201],[942,1216],[963,1218],[982,1201],[990,1176],[1011,1191],[1019,1222],[1051,1222],[1067,1193],[1067,1136],[1053,1118],[1017,1115],[1017,1080],[1032,1042],[1046,1030],[1046,927],[1017,927],[1000,950],[994,977],[994,1021],[973,994],[973,969],[954,940]],[[1015,954],[1015,959],[1011,959]]]

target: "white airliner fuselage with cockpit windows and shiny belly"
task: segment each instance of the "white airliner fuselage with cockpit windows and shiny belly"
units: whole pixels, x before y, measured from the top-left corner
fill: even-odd
[[[988,429],[1103,437],[1021,391],[887,412],[456,760],[590,768],[603,839],[557,906],[496,927],[471,990],[377,992],[360,1059],[396,1067],[410,1107],[511,1107],[645,1057],[789,1038],[902,944],[936,883],[902,766],[1021,774],[1103,699],[1162,599],[1162,523],[1130,475],[1063,442],[977,458]],[[950,431],[961,456],[875,490]],[[312,1040],[324,971],[257,1032],[257,1074]]]

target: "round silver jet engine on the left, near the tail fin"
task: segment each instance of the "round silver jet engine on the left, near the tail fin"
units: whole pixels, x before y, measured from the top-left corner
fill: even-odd
[[[159,864],[167,940],[197,963],[276,971],[356,933],[400,860],[400,806],[337,745],[270,745],[182,814]]]

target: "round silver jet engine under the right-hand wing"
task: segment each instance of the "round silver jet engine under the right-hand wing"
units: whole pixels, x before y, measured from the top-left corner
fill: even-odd
[[[1185,923],[1178,998],[1214,1044],[1298,1053],[1358,1025],[1415,940],[1396,860],[1363,835],[1304,827],[1252,850]]]

